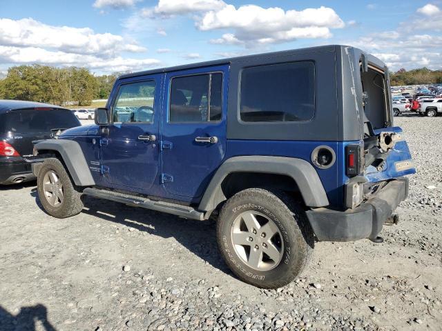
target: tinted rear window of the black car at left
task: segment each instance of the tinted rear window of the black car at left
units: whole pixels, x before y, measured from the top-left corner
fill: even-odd
[[[35,133],[81,126],[70,110],[12,110],[2,114],[1,132]]]

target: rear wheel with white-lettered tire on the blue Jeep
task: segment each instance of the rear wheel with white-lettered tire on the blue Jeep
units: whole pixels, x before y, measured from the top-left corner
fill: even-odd
[[[259,288],[280,288],[305,268],[314,234],[305,212],[284,192],[250,188],[223,206],[218,247],[234,274]]]

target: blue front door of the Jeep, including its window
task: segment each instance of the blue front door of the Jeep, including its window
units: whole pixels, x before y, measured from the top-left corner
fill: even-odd
[[[158,174],[161,74],[123,79],[101,138],[102,174],[113,188],[148,194]]]

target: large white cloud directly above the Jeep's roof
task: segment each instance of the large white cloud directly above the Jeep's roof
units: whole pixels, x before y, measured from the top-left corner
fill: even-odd
[[[224,6],[211,10],[196,22],[198,29],[233,29],[235,33],[224,34],[212,43],[277,43],[298,38],[329,38],[330,28],[343,28],[345,23],[332,8],[307,8],[305,10],[282,10],[262,8],[255,5]]]

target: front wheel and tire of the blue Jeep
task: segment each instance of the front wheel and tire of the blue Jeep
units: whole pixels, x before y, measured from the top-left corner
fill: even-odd
[[[81,192],[75,189],[64,165],[58,159],[46,159],[37,177],[37,192],[44,210],[53,217],[64,219],[83,209]]]

